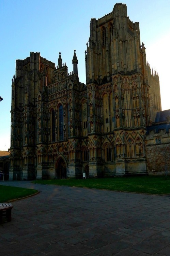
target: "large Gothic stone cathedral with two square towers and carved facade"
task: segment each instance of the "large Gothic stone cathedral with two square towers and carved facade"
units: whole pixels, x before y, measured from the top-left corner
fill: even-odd
[[[161,111],[158,73],[146,62],[139,23],[126,4],[92,18],[85,52],[68,73],[31,52],[12,80],[9,179],[105,177],[147,172],[145,134]]]

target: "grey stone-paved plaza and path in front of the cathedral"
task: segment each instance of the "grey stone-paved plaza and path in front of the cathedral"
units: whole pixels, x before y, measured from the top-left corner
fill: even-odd
[[[169,256],[170,197],[2,182],[39,194],[14,201],[0,256]]]

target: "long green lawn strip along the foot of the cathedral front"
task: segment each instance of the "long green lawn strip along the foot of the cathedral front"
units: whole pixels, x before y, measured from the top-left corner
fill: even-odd
[[[74,186],[109,189],[114,191],[128,191],[146,194],[170,194],[170,177],[165,176],[130,176],[91,179],[66,179],[66,180],[39,180],[38,184]]]

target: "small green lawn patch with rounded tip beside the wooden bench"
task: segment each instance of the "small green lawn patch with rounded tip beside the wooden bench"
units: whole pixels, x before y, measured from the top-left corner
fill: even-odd
[[[0,185],[0,203],[8,202],[13,199],[33,195],[37,192],[35,189],[11,187]]]

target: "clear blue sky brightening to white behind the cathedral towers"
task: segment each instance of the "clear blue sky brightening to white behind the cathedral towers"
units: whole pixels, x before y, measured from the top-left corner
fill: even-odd
[[[85,77],[85,50],[90,19],[112,12],[117,1],[103,0],[0,0],[0,150],[10,147],[11,80],[15,60],[30,52],[58,65],[59,52],[72,71],[74,49],[78,74]],[[119,2],[120,3],[120,2]],[[125,0],[127,15],[140,24],[140,39],[146,47],[151,69],[159,74],[162,110],[170,109],[170,0]]]

